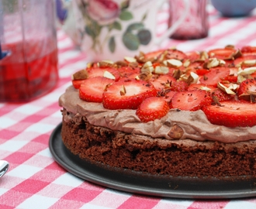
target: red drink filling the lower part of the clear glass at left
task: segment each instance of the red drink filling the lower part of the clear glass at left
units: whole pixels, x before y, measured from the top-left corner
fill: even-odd
[[[12,55],[0,60],[0,101],[29,101],[46,94],[57,84],[57,49],[26,61],[25,53],[16,51],[19,46],[22,43],[2,46],[2,50],[6,48]],[[36,55],[36,50],[30,53]]]

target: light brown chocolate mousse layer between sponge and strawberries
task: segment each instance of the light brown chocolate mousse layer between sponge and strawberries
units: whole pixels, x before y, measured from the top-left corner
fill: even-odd
[[[78,90],[68,87],[59,99],[61,107],[75,117],[83,117],[95,126],[106,127],[127,134],[147,135],[161,139],[194,139],[225,143],[256,139],[256,126],[229,128],[211,124],[203,111],[171,109],[167,115],[152,122],[141,122],[136,110],[108,110],[102,103],[86,102],[79,98]],[[70,115],[64,115],[68,122]]]

